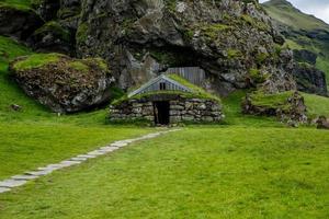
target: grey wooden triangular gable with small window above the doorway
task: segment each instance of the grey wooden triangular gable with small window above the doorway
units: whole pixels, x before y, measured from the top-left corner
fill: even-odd
[[[134,95],[149,93],[154,91],[181,91],[181,92],[189,92],[191,93],[192,90],[182,85],[181,83],[168,78],[164,74],[159,76],[147,82],[146,84],[141,85],[139,89],[133,91],[128,94],[128,97]]]

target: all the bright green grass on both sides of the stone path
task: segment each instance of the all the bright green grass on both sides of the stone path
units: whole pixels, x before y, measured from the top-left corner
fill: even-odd
[[[105,108],[50,113],[8,72],[29,54],[0,37],[0,180],[156,131],[106,125]],[[245,95],[223,99],[220,126],[188,126],[1,194],[0,218],[328,218],[328,131],[246,116]],[[305,99],[309,115],[328,115],[328,99]]]

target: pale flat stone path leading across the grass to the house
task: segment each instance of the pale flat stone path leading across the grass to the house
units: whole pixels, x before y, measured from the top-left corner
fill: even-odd
[[[115,150],[118,150],[120,148],[126,147],[126,146],[128,146],[133,142],[156,138],[160,135],[172,132],[172,131],[178,131],[178,130],[180,130],[180,129],[158,131],[158,132],[154,132],[154,134],[148,134],[148,135],[139,137],[139,138],[114,141],[113,143],[111,143],[109,146],[105,146],[105,147],[102,147],[100,149],[90,151],[86,154],[79,154],[75,158],[61,161],[61,162],[56,163],[56,164],[49,164],[49,165],[44,166],[44,168],[38,168],[34,171],[25,172],[22,175],[11,176],[8,180],[0,181],[0,194],[10,192],[14,187],[22,186],[25,183],[27,183],[29,181],[33,181],[35,178],[38,178],[38,177],[43,176],[43,175],[50,174],[54,171],[65,169],[65,168],[69,168],[69,166],[72,166],[72,165],[78,165],[82,162],[86,162],[89,159],[94,159],[94,158],[98,158],[100,155],[111,153],[111,152],[113,152]]]

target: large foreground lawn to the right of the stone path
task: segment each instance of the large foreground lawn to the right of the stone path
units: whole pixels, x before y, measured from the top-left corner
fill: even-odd
[[[328,131],[191,127],[1,195],[0,216],[328,218]]]

